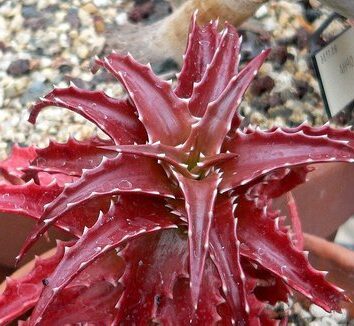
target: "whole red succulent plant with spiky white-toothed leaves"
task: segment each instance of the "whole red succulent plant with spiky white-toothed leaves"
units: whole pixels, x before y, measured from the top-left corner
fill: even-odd
[[[50,226],[73,236],[8,278],[0,324],[266,325],[292,290],[327,310],[342,291],[315,271],[272,199],[315,162],[353,162],[354,135],[325,125],[262,131],[237,108],[269,51],[238,70],[241,38],[194,17],[177,85],[130,55],[97,59],[128,97],[55,88],[59,106],[110,140],[13,149],[0,164],[0,211],[38,221],[19,260]]]

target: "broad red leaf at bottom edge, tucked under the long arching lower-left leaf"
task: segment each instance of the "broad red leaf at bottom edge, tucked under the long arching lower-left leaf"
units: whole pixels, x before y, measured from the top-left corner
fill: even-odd
[[[28,325],[37,322],[57,326],[80,323],[111,325],[116,313],[115,305],[122,293],[122,287],[116,280],[123,270],[123,260],[115,252],[106,253],[75,277],[45,314],[38,318],[32,314]],[[49,279],[47,282],[50,285]]]

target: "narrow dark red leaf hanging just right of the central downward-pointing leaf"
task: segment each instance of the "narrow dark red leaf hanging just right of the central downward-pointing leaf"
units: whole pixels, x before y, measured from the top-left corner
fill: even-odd
[[[240,241],[231,198],[219,198],[210,230],[210,253],[223,283],[223,292],[234,322],[248,324],[245,274],[240,263]],[[252,309],[252,308],[251,308]]]

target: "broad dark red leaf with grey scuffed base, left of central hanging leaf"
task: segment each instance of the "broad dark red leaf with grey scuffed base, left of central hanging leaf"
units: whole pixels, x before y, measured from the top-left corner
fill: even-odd
[[[188,273],[186,245],[186,237],[175,230],[129,242],[120,253],[126,269],[120,279],[124,292],[117,304],[118,322],[139,325],[153,320],[161,301],[172,298],[177,278]]]

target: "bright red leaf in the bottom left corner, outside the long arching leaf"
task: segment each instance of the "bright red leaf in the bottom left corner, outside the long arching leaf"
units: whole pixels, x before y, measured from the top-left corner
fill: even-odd
[[[63,254],[64,243],[58,242],[55,254],[46,259],[37,257],[27,275],[19,279],[6,279],[5,291],[0,295],[1,325],[15,320],[36,304],[42,292],[42,281],[53,272]]]

